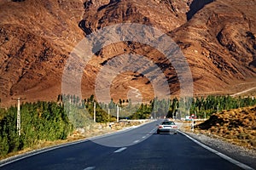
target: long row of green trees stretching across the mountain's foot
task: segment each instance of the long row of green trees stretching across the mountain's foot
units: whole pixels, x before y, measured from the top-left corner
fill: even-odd
[[[230,96],[207,96],[189,99],[154,99],[148,104],[131,105],[131,99],[119,99],[109,104],[97,103],[93,95],[79,99],[73,95],[59,95],[56,102],[38,101],[23,103],[20,108],[21,134],[16,127],[17,108],[0,108],[0,156],[32,147],[44,141],[67,139],[77,127],[93,123],[94,103],[96,103],[96,122],[116,121],[117,105],[119,118],[147,119],[157,117],[184,117],[195,114],[197,117],[211,116],[223,110],[256,105],[256,99],[233,98]],[[181,108],[181,103],[188,111]],[[110,114],[108,115],[108,112]]]

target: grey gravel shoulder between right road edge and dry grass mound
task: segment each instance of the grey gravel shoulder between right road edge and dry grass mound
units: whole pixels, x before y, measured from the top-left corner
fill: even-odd
[[[223,153],[226,156],[230,156],[236,161],[241,161],[241,163],[256,169],[256,150],[249,150],[236,144],[230,144],[221,139],[209,137],[202,133],[183,133],[188,134],[190,137],[200,141],[203,144],[206,144],[207,146]]]

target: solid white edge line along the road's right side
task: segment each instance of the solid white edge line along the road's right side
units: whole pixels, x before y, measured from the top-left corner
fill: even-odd
[[[183,132],[179,131],[179,133],[183,133]],[[230,156],[226,156],[226,155],[224,155],[224,154],[218,152],[217,150],[213,150],[212,148],[210,148],[210,147],[207,146],[206,144],[202,144],[202,143],[199,142],[198,140],[193,139],[193,138],[190,137],[188,134],[183,133],[183,135],[186,136],[187,138],[191,139],[191,140],[192,140],[193,142],[195,142],[196,144],[199,144],[201,147],[203,147],[203,148],[205,148],[205,149],[207,149],[207,150],[212,151],[214,154],[216,154],[216,155],[218,155],[218,156],[224,158],[224,159],[227,160],[227,161],[230,161],[231,163],[235,164],[236,166],[241,167],[241,168],[243,168],[243,169],[253,170],[252,167],[249,167],[249,166],[247,166],[247,165],[241,163],[240,161],[236,161],[236,160],[234,160],[233,158],[231,158]]]

